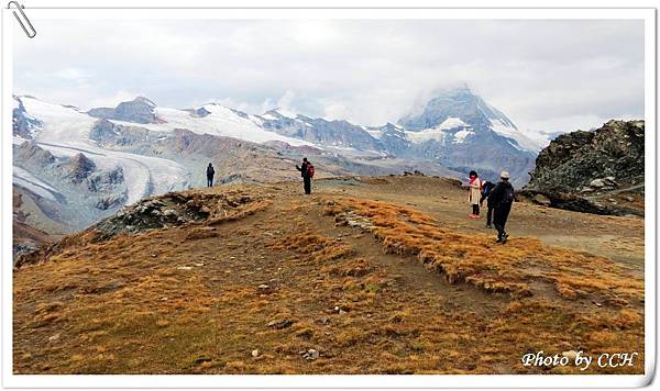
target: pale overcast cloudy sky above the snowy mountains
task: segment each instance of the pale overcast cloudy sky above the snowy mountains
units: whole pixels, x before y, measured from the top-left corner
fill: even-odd
[[[644,116],[644,21],[42,20],[14,36],[14,92],[81,109],[145,96],[382,125],[465,82],[522,130]]]

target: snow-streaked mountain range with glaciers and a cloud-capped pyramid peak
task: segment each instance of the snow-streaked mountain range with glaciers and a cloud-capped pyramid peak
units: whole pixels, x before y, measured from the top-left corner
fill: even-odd
[[[295,179],[302,156],[318,176],[418,170],[464,178],[475,169],[528,181],[548,142],[526,134],[468,87],[442,91],[396,124],[363,126],[273,109],[250,114],[218,103],[162,108],[138,97],[82,111],[14,96],[13,182],[26,224],[47,233],[88,226],[144,197],[217,182]]]

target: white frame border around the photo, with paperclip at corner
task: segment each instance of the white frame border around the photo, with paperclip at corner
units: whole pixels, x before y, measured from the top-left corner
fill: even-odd
[[[125,4],[125,1],[123,2]],[[172,2],[169,2],[172,3]],[[132,2],[135,4],[135,2]],[[173,5],[174,7],[174,5]],[[6,388],[575,388],[642,387],[656,367],[656,10],[654,9],[26,9],[38,37],[38,21],[52,19],[525,19],[644,20],[646,120],[645,375],[145,375],[55,376],[12,372],[12,48],[23,31],[2,9],[2,386]],[[84,34],[84,32],[80,32]],[[24,36],[23,36],[24,37]],[[19,37],[16,37],[19,38]],[[26,37],[25,37],[26,38]],[[649,131],[650,130],[650,131]]]

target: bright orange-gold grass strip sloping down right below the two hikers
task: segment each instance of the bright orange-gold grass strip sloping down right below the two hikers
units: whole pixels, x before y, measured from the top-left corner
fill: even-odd
[[[384,202],[334,199],[324,211],[339,224],[366,219],[366,226],[385,252],[416,256],[450,283],[469,282],[488,292],[531,295],[534,281],[554,286],[563,298],[596,295],[613,303],[644,298],[641,280],[612,260],[560,247],[535,238],[515,238],[506,245],[492,236],[457,232],[415,210]]]

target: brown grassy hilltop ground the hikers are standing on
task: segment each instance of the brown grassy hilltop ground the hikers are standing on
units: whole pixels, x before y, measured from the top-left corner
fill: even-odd
[[[516,203],[497,245],[440,178],[183,196],[228,191],[257,201],[14,269],[14,373],[644,372],[641,217]],[[538,350],[641,357],[524,367]]]

